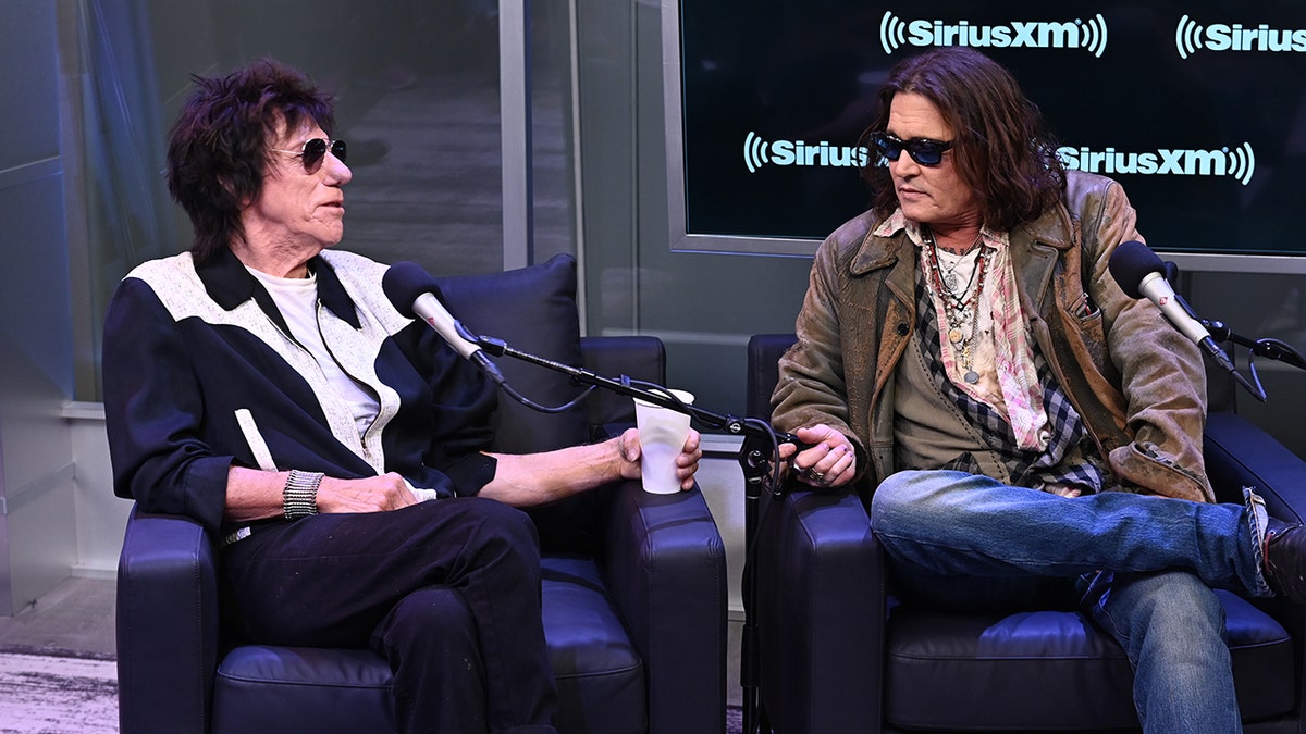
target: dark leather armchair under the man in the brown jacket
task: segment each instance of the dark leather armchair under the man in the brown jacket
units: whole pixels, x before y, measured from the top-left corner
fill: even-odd
[[[748,345],[748,414],[771,417],[776,362],[794,334]],[[1272,515],[1306,517],[1306,462],[1229,411],[1212,375],[1207,470],[1221,502],[1254,486]],[[900,605],[862,499],[795,488],[759,522],[760,699],[784,734],[1130,730],[1121,646],[1077,611],[942,614]],[[1218,592],[1247,731],[1301,731],[1306,607]]]

